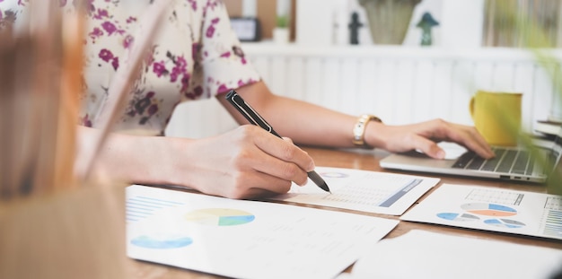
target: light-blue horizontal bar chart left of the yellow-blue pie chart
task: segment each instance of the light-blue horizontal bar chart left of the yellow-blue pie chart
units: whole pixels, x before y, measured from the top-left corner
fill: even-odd
[[[148,196],[132,196],[127,198],[127,222],[138,222],[162,209],[180,205],[185,204]]]

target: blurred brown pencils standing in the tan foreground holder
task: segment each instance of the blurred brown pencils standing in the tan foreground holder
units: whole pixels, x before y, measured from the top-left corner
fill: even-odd
[[[74,15],[64,19],[50,1],[29,5],[27,29],[13,31],[21,14],[0,23],[1,199],[75,184],[82,24]],[[71,23],[65,29],[63,20]]]

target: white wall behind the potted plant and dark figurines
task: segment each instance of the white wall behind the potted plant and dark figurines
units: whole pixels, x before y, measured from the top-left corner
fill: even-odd
[[[359,14],[359,43],[372,45],[368,19],[357,0],[297,0],[296,43],[305,46],[349,44],[348,24],[351,13]],[[409,21],[405,46],[419,46],[421,30],[416,27],[423,13],[431,13],[439,22],[432,31],[434,46],[442,48],[479,48],[482,42],[484,0],[423,0]]]

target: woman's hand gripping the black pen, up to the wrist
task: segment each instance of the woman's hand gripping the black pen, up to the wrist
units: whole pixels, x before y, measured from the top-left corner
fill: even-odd
[[[291,181],[304,185],[312,158],[291,140],[244,125],[215,137],[187,142],[174,139],[168,161],[175,185],[230,198],[286,193]]]

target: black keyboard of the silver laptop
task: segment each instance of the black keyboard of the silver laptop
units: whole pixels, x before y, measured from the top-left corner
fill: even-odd
[[[455,169],[487,170],[522,175],[531,175],[533,158],[528,151],[494,147],[496,157],[486,160],[473,152],[464,153],[452,165]]]

